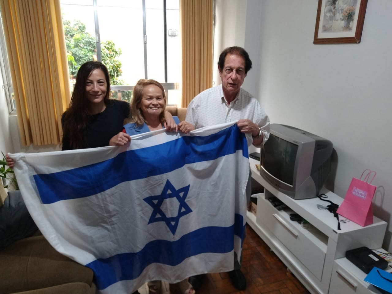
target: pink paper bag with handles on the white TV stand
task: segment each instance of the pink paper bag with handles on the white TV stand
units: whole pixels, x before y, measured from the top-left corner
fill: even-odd
[[[367,174],[365,174],[366,171],[368,171]],[[364,174],[365,177],[362,180]],[[374,175],[372,180],[368,183],[371,174]],[[375,176],[376,172],[365,169],[359,180],[352,178],[346,196],[336,212],[341,216],[358,223],[358,225],[361,225],[362,227],[371,225],[373,223],[372,200],[377,188],[376,186],[371,185],[371,183]]]

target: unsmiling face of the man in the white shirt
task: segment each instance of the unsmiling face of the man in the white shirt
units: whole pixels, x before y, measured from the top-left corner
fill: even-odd
[[[222,80],[223,93],[226,99],[234,99],[240,91],[245,79],[245,58],[227,54],[223,69],[219,68]],[[231,99],[231,100],[232,100]]]

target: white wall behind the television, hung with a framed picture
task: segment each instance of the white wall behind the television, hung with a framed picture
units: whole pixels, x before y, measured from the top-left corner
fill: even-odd
[[[317,4],[262,0],[260,7],[256,0],[247,1],[245,40],[259,40],[245,44],[252,61],[260,60],[252,69],[258,71],[252,73],[258,77],[253,93],[272,123],[293,125],[334,143],[328,189],[344,197],[352,177],[367,168],[377,172],[373,209],[389,223],[383,247],[391,251],[392,1],[369,1],[361,43],[339,45],[313,44]],[[248,31],[252,25],[256,29]],[[260,46],[257,56],[248,44]]]

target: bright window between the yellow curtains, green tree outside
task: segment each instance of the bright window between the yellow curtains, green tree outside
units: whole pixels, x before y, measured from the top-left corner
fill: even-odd
[[[112,95],[130,100],[140,78],[162,83],[179,103],[179,0],[60,0],[70,78],[88,60],[102,61]],[[165,22],[166,19],[166,22]]]

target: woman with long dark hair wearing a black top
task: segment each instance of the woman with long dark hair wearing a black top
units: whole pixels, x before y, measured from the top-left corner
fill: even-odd
[[[125,145],[131,138],[122,131],[129,103],[109,98],[109,73],[105,65],[89,61],[80,67],[69,108],[62,116],[62,150]],[[165,127],[177,130],[165,111]]]

